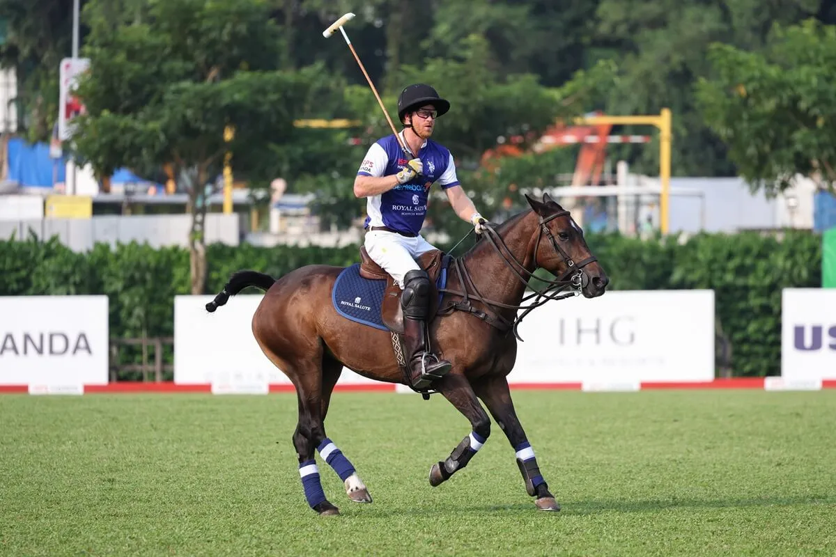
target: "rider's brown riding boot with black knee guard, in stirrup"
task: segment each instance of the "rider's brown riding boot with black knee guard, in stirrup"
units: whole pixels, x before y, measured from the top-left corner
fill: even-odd
[[[417,390],[430,387],[450,371],[452,364],[432,354],[428,348],[430,334],[426,318],[430,306],[430,277],[426,271],[409,271],[404,277],[404,292],[400,296],[404,312],[404,337],[406,365],[410,382]]]

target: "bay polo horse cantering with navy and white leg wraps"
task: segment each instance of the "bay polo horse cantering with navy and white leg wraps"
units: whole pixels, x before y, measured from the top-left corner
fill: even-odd
[[[609,279],[568,210],[548,194],[543,200],[525,197],[530,209],[501,225],[489,223],[470,250],[451,259],[446,287],[439,289],[446,305],[429,323],[429,334],[439,357],[449,360],[452,369],[432,389],[467,418],[472,431],[444,461],[432,464],[429,480],[436,487],[450,479],[486,443],[491,419],[481,399],[516,452],[526,492],[536,498],[536,508],[558,511],[560,505],[538,468],[508,387],[507,375],[517,357],[516,325],[548,300],[601,296]],[[557,280],[534,276],[538,268]],[[206,304],[207,311],[215,311],[247,286],[266,291],[252,316],[252,333],[264,354],[296,387],[293,447],[308,506],[319,514],[339,514],[339,509],[324,494],[314,450],[343,480],[350,500],[372,501],[354,465],[325,433],[331,393],[343,367],[377,381],[408,384],[395,358],[393,334],[350,321],[332,305],[332,288],[344,270],[308,265],[278,280],[256,271],[237,271]],[[529,284],[533,280],[547,287],[538,290]],[[524,296],[527,288],[534,293]],[[558,294],[567,288],[568,292]],[[529,306],[521,305],[533,296],[536,300]],[[523,314],[517,315],[520,310]]]

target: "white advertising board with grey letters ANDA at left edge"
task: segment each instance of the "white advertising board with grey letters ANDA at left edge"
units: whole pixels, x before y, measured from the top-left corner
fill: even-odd
[[[106,385],[107,296],[0,296],[0,385]]]

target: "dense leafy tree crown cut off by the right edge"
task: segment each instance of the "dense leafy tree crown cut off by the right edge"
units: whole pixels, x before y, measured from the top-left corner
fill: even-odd
[[[797,174],[836,182],[836,26],[775,25],[767,48],[711,47],[716,75],[696,85],[703,118],[752,190],[786,189]]]

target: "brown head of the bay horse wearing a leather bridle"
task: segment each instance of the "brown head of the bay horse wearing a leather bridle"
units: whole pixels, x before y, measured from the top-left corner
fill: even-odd
[[[542,267],[558,281],[571,280],[580,286],[587,298],[601,296],[606,291],[609,278],[584,240],[584,230],[574,221],[571,213],[556,201],[543,194],[536,200],[528,194],[528,205],[539,216],[539,233],[534,245],[534,265]],[[542,241],[545,238],[545,241]]]

